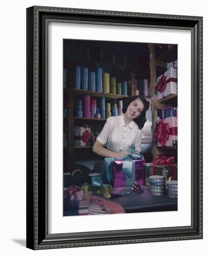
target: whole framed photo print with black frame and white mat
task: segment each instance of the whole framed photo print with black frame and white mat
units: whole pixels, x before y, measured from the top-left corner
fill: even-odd
[[[27,8],[27,247],[202,239],[202,17]]]

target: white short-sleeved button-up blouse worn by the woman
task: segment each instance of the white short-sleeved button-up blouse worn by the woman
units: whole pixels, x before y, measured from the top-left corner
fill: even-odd
[[[131,146],[135,146],[141,152],[142,129],[131,121],[129,125],[125,125],[124,114],[111,116],[97,137],[107,149],[114,152],[128,151]]]

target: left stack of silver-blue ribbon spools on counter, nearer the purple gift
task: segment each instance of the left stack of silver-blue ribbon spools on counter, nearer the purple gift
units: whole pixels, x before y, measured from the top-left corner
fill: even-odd
[[[149,176],[151,195],[163,195],[164,177],[160,175]]]

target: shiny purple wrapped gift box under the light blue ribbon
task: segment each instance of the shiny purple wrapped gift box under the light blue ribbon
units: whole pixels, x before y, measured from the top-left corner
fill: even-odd
[[[137,181],[140,185],[145,185],[145,160],[133,160],[135,164],[135,173],[132,172],[132,177],[128,178],[122,172],[123,160],[113,161],[113,187],[126,187],[132,186],[134,181]]]

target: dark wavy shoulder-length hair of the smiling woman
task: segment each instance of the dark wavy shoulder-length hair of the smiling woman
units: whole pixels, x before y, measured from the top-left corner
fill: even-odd
[[[136,99],[140,99],[142,101],[142,103],[144,104],[144,109],[142,110],[141,114],[139,115],[138,118],[133,119],[133,121],[135,121],[135,123],[139,126],[139,129],[142,129],[145,125],[145,121],[146,121],[146,111],[149,109],[150,107],[150,102],[147,101],[145,99],[145,97],[143,97],[142,95],[137,95],[137,96],[130,96],[127,98],[126,101],[124,101],[124,107],[122,108],[123,113],[126,113],[126,110],[129,106],[129,104],[136,100]]]

